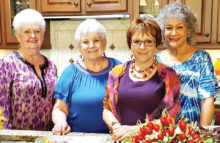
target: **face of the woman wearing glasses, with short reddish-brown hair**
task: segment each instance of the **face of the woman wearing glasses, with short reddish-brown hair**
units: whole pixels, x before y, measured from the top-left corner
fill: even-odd
[[[135,62],[146,63],[154,58],[157,51],[156,41],[151,35],[136,33],[131,37],[131,51]]]

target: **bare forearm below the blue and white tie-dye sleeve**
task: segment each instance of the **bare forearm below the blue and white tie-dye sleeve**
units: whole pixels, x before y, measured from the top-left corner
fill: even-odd
[[[211,125],[214,115],[214,96],[201,100],[200,126]]]

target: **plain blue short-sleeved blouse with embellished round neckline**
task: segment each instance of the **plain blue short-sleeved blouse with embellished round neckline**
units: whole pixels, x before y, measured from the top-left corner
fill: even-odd
[[[108,58],[108,67],[93,72],[77,61],[63,71],[55,87],[54,99],[67,103],[67,122],[72,132],[108,133],[102,119],[105,86],[109,71],[120,63]]]

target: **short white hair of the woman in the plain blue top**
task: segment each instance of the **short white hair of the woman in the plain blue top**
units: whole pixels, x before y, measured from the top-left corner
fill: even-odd
[[[86,19],[77,27],[75,32],[75,40],[77,43],[80,42],[82,34],[87,34],[89,32],[95,32],[100,34],[102,39],[106,39],[105,27],[99,23],[96,19]]]

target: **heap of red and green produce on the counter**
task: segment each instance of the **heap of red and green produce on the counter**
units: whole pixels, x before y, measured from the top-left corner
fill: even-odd
[[[124,143],[213,143],[213,139],[205,139],[205,135],[199,131],[197,122],[187,125],[188,119],[179,120],[170,117],[166,110],[163,111],[159,120],[149,121],[146,117],[145,123],[141,124],[137,133],[124,139]]]

